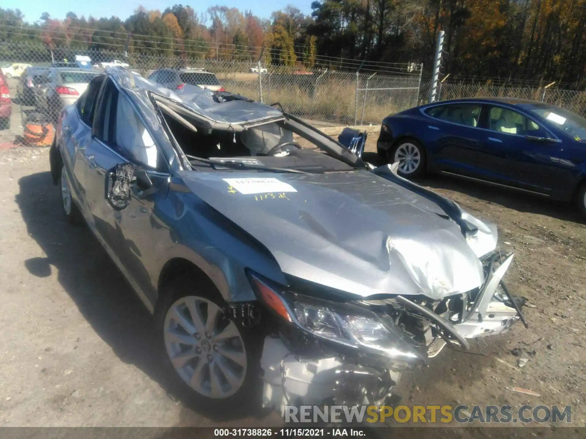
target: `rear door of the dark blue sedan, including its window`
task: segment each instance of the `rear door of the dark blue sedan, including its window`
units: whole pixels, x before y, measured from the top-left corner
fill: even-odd
[[[431,139],[426,146],[432,168],[462,175],[475,173],[482,135],[478,128],[481,111],[482,105],[473,102],[438,105],[424,110],[431,117],[424,129]]]

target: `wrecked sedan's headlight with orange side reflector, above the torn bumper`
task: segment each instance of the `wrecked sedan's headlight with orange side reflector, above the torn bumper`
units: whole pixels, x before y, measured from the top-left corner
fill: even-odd
[[[422,359],[404,339],[403,331],[384,322],[367,308],[315,299],[274,286],[251,276],[259,299],[285,321],[332,342],[402,360]]]

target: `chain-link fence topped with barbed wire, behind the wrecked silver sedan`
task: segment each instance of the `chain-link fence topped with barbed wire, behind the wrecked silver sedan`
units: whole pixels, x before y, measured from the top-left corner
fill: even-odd
[[[265,104],[278,102],[285,111],[321,126],[379,124],[384,116],[417,105],[422,68],[393,64],[389,71],[357,73],[13,43],[0,43],[0,65],[12,99],[8,129],[15,135],[21,135],[32,114],[54,122],[63,106],[108,66],[130,68],[168,88],[193,84]]]

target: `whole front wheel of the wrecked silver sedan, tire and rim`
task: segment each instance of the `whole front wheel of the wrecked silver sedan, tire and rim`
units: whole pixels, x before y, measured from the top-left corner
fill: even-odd
[[[182,275],[163,288],[156,311],[163,363],[178,390],[205,407],[250,397],[262,345],[250,328],[224,314],[219,293],[198,291],[197,279]],[[217,297],[216,297],[217,296]]]

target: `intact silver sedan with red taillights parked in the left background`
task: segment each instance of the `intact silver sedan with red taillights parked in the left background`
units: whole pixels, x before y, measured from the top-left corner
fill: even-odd
[[[87,84],[100,72],[86,68],[53,67],[35,76],[35,103],[40,111],[56,119],[63,108],[74,104]]]

